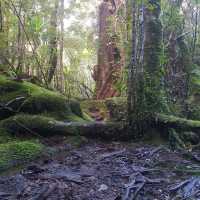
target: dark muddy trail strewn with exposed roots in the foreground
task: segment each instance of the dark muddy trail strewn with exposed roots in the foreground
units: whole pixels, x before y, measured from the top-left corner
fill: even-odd
[[[57,156],[0,177],[1,200],[200,199],[199,151],[104,143],[63,145]]]

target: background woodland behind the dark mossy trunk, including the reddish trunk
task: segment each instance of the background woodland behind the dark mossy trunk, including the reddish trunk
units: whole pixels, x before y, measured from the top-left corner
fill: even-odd
[[[145,1],[136,4],[137,62],[141,63]],[[1,71],[35,79],[68,97],[126,96],[132,7],[128,0],[2,0]],[[172,109],[194,118],[198,105],[188,103],[192,105],[199,93],[199,2],[163,0],[160,20],[165,100],[172,102]]]

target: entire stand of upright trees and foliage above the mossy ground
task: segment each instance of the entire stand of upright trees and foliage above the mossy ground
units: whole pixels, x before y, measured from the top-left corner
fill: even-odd
[[[199,6],[1,0],[1,74],[68,99],[121,97],[138,132],[155,114],[199,120]]]

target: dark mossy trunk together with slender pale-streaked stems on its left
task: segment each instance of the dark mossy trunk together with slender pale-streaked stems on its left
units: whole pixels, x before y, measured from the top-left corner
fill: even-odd
[[[142,8],[142,21],[135,21],[138,9]],[[160,0],[149,0],[143,5],[133,4],[132,61],[128,83],[128,116],[131,128],[136,137],[143,134],[148,127],[152,113],[162,109],[161,87],[161,41],[162,25],[160,16]],[[139,26],[139,30],[137,31]],[[142,52],[141,52],[142,51]],[[138,56],[138,54],[140,55]],[[134,60],[134,61],[133,61]]]

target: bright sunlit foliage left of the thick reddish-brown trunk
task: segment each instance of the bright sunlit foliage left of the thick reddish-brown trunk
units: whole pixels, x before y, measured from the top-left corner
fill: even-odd
[[[52,87],[69,97],[91,97],[94,89],[91,70],[96,63],[97,47],[93,26],[97,15],[95,13],[97,1],[70,0],[64,4],[63,16],[59,1],[60,12],[57,14],[56,30],[51,26],[51,17],[55,9],[53,2],[49,0],[1,2],[3,31],[0,31],[0,70],[17,71],[16,75],[27,73],[37,76],[44,82],[50,67],[50,41],[56,37],[59,43],[58,65],[61,64],[60,44],[62,42],[64,44],[62,59],[64,69],[62,69],[62,79],[60,82],[58,79],[54,80],[57,83],[52,84]],[[62,23],[64,30],[61,30]],[[56,70],[55,78],[60,76],[60,71]],[[84,86],[89,88],[86,92]]]

